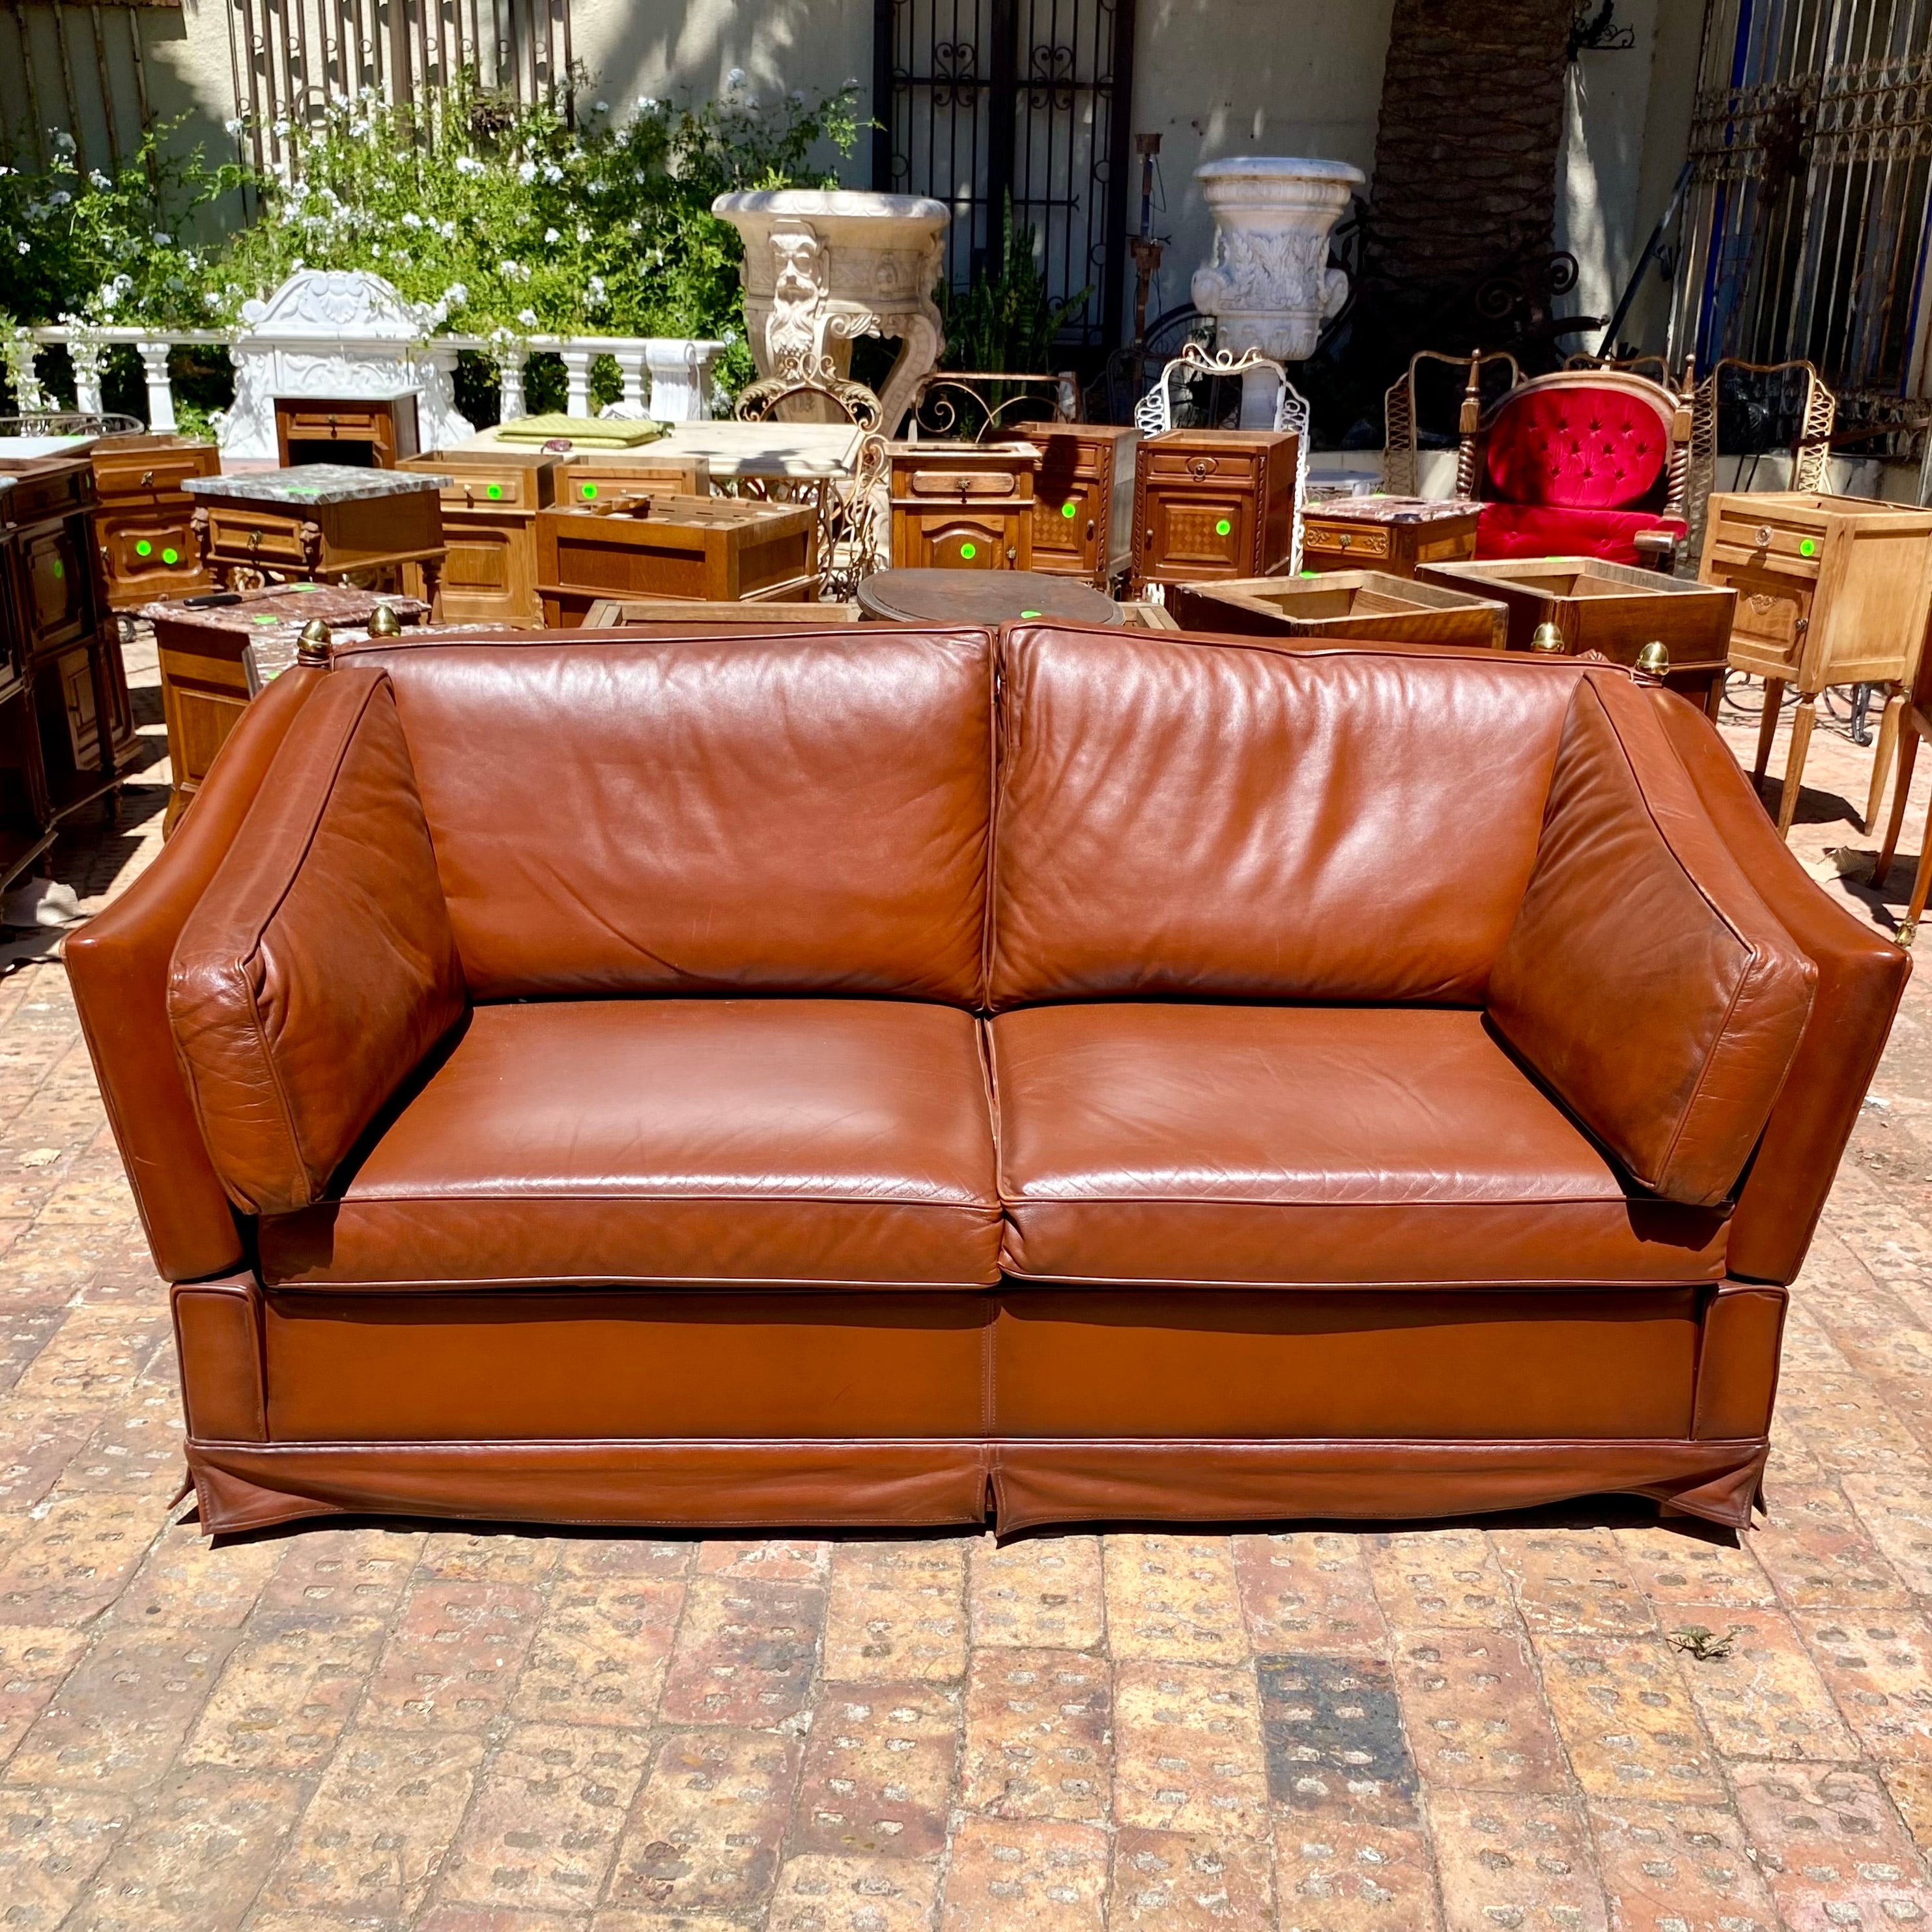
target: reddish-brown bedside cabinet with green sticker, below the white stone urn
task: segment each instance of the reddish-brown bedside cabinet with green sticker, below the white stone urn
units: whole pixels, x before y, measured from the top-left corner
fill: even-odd
[[[1134,454],[1134,580],[1265,578],[1294,554],[1291,429],[1165,429]]]

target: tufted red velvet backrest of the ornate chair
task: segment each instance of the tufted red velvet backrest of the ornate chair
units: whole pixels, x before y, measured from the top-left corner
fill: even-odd
[[[1623,388],[1534,388],[1507,396],[1484,440],[1484,497],[1559,510],[1625,510],[1669,460],[1669,423]]]

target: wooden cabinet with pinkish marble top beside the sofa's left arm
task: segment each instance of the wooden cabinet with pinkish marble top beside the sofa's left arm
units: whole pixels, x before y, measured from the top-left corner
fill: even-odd
[[[155,626],[168,721],[172,784],[162,835],[174,831],[265,676],[294,663],[301,626],[319,616],[334,630],[367,636],[379,603],[404,624],[421,624],[429,614],[413,597],[379,597],[340,583],[270,583],[226,603],[168,599],[141,609]]]

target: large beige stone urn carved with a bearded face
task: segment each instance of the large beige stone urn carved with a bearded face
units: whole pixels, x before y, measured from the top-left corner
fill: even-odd
[[[879,388],[887,429],[896,429],[945,348],[933,284],[947,205],[856,187],[759,187],[719,195],[711,213],[744,236],[757,373],[844,377],[854,336],[896,336],[898,359]]]

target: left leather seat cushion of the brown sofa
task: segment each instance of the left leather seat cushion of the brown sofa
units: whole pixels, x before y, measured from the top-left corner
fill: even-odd
[[[910,1001],[477,1007],[270,1287],[999,1279],[972,1014]]]

